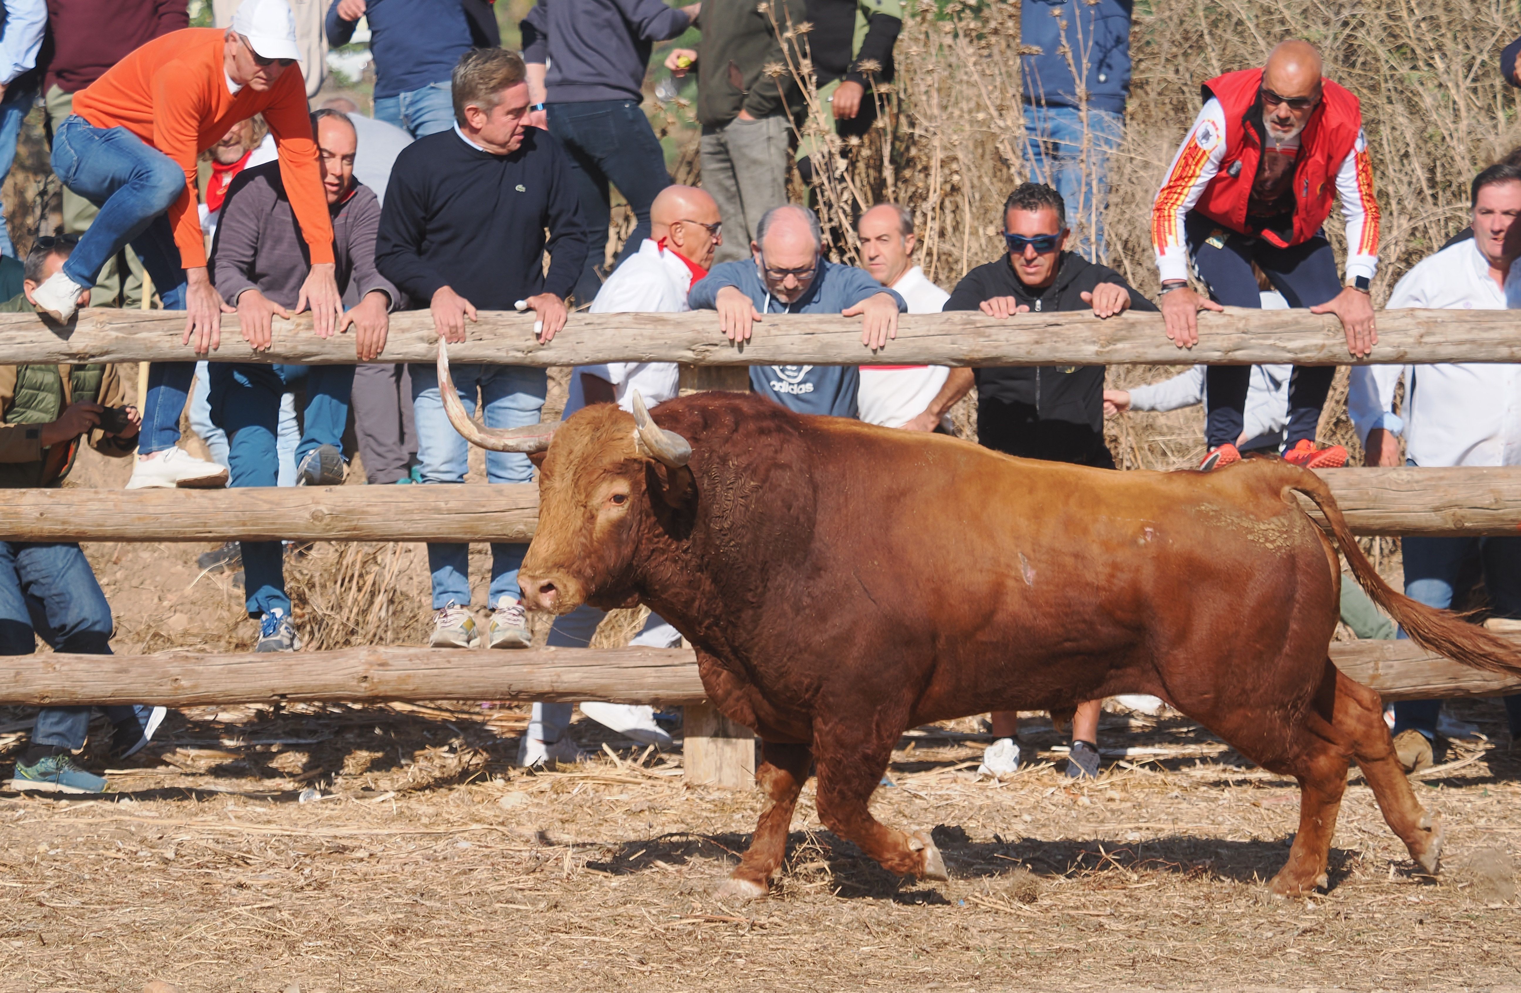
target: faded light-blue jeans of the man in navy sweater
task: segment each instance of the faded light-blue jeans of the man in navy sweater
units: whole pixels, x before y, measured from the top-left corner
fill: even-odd
[[[487,427],[525,427],[538,423],[545,406],[548,377],[545,370],[519,365],[459,365],[450,370],[459,401],[475,417],[476,391],[485,403]],[[417,461],[423,482],[464,482],[470,470],[470,443],[465,441],[444,414],[438,395],[438,368],[412,365],[412,412],[417,420]],[[485,453],[487,482],[529,482],[534,464],[517,452]],[[447,499],[447,497],[444,497]],[[517,570],[523,564],[526,544],[491,543],[491,593],[494,607],[503,596],[522,598]],[[430,543],[427,567],[433,573],[433,610],[458,604],[470,605],[470,546]]]

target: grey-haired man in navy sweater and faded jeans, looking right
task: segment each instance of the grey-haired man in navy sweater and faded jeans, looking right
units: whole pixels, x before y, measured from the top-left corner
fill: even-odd
[[[465,319],[475,321],[476,307],[511,310],[522,300],[538,315],[538,341],[548,342],[564,327],[564,298],[587,252],[570,161],[554,138],[526,126],[526,70],[514,52],[467,52],[455,67],[452,91],[455,126],[418,138],[397,155],[380,214],[376,265],[412,300],[430,301],[433,327],[446,341],[465,339]],[[432,365],[414,365],[411,371],[423,482],[464,482],[470,446],[444,414],[438,371]],[[459,365],[453,379],[472,415],[479,391],[488,427],[538,423],[545,370]],[[526,455],[487,452],[485,468],[488,482],[532,477]],[[427,546],[435,648],[481,643],[468,610],[468,547]],[[529,645],[526,617],[517,604],[523,552],[522,544],[491,546],[490,648]]]

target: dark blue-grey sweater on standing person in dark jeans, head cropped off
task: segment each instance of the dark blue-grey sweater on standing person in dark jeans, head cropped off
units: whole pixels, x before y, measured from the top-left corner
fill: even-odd
[[[649,49],[691,24],[662,0],[538,0],[520,24],[523,61],[549,65],[549,103],[642,102]]]

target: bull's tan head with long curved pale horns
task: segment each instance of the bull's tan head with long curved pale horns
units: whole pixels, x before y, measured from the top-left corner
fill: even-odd
[[[563,614],[589,599],[605,608],[633,605],[630,573],[640,535],[691,490],[686,438],[659,427],[637,392],[633,415],[604,403],[560,424],[476,427],[449,376],[443,338],[438,389],[467,441],[522,452],[538,465],[538,529],[519,572],[523,607]]]

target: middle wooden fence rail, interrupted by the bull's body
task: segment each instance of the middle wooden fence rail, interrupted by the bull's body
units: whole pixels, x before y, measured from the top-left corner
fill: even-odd
[[[1322,476],[1357,534],[1521,534],[1521,467]],[[0,502],[0,541],[528,541],[537,523],[534,484],[8,490]]]

